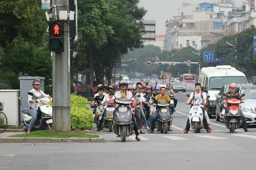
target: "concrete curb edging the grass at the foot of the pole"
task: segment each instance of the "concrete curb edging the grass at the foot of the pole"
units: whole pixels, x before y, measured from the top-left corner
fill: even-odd
[[[104,143],[104,138],[0,138],[0,143]]]

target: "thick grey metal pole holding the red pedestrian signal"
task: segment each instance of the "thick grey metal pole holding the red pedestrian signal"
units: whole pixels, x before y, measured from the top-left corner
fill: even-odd
[[[52,0],[56,12],[69,11],[69,0]],[[55,10],[52,10],[55,14]],[[56,14],[55,14],[56,15]],[[58,16],[58,15],[57,15]],[[53,130],[68,133],[70,124],[70,53],[69,25],[64,22],[64,52],[52,54],[52,97],[53,97]]]

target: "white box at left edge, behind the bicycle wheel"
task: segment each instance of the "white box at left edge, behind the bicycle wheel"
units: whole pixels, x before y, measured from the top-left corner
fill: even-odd
[[[4,102],[3,113],[7,116],[7,125],[19,126],[19,90],[0,90],[0,101]]]

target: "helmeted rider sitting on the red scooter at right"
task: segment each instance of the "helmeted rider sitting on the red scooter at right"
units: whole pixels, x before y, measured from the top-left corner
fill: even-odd
[[[237,100],[241,100],[241,103],[245,103],[245,101],[243,101],[240,94],[237,92],[237,84],[236,83],[229,84],[229,92],[226,94],[226,96],[228,99],[237,99]],[[226,100],[223,100],[223,102],[226,103]],[[228,106],[225,108],[225,114],[228,114]],[[245,132],[247,132],[248,129],[247,129],[247,124],[246,124],[246,118],[241,109],[240,109],[240,114],[242,116],[243,129],[245,130]]]

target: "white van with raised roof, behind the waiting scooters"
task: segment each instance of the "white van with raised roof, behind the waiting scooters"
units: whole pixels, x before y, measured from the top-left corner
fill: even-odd
[[[231,83],[246,84],[246,78],[245,74],[231,66],[203,67],[198,82],[210,96],[207,112],[212,116],[216,112],[216,95],[221,87]]]

